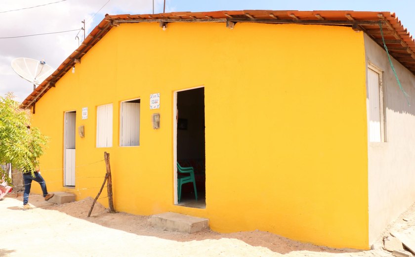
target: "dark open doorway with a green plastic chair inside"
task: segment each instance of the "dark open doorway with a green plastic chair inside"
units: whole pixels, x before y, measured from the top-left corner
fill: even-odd
[[[175,159],[184,170],[193,168],[195,181],[193,183],[190,173],[177,171],[175,167],[175,202],[185,207],[206,208],[205,88],[178,91],[175,100]]]

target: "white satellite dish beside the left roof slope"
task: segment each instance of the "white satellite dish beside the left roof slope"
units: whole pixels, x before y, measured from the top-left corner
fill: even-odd
[[[17,75],[31,82],[34,87],[41,84],[54,72],[54,69],[44,60],[38,61],[31,58],[16,58],[11,61],[11,67]]]

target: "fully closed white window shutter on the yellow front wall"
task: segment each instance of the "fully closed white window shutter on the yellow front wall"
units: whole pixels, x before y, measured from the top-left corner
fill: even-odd
[[[96,147],[112,147],[113,141],[113,104],[104,104],[96,108]]]

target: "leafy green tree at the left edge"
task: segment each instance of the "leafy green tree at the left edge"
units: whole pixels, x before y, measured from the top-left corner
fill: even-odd
[[[11,163],[12,167],[35,171],[39,157],[44,152],[47,137],[38,128],[30,126],[30,111],[19,108],[12,93],[0,96],[0,164]],[[0,179],[10,178],[0,169]]]

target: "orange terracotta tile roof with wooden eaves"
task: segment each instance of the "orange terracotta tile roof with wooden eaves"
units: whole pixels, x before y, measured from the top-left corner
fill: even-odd
[[[82,56],[112,28],[112,23],[165,21],[203,21],[215,22],[266,22],[352,26],[367,33],[383,47],[380,36],[379,21],[382,21],[384,39],[390,47],[391,55],[415,74],[415,42],[401,21],[391,12],[368,12],[352,10],[222,10],[209,12],[170,12],[158,14],[119,14],[106,15],[85,38],[83,43],[63,63],[46,78],[21,104],[21,108],[33,105],[47,90],[74,66],[74,59]]]

